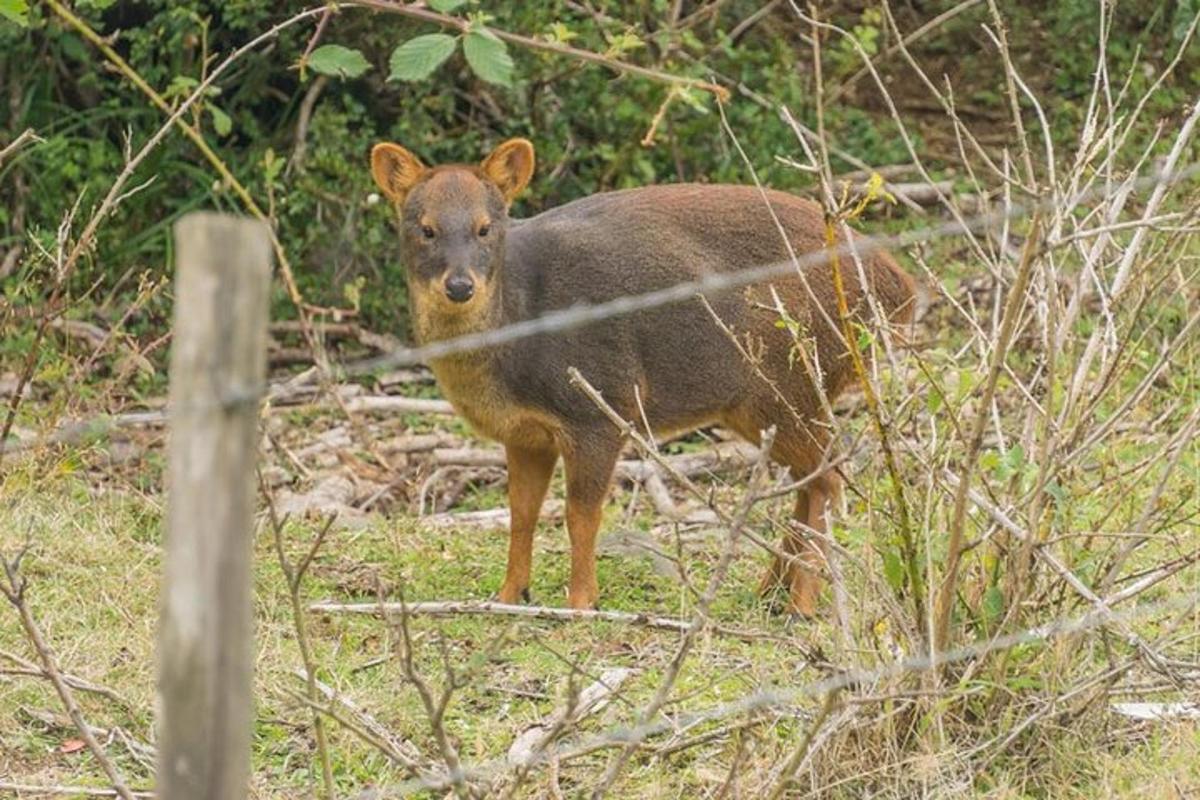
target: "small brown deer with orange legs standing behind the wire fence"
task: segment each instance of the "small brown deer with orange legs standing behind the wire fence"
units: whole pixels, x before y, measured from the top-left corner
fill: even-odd
[[[371,172],[398,216],[420,343],[782,261],[791,258],[788,242],[796,253],[824,247],[820,206],[746,186],[648,186],[511,219],[509,204],[534,172],[524,139],[505,142],[479,166],[432,168],[400,145],[378,144]],[[877,314],[868,308],[860,272],[851,258],[842,260],[852,319],[872,327]],[[862,266],[883,313],[910,321],[912,279],[881,252]],[[803,525],[785,536],[785,555],[776,553],[762,589],[782,584],[791,612],[814,613],[827,507],[840,491],[827,468],[832,433],[821,395],[832,401],[856,380],[832,269],[823,264],[806,269],[804,279],[790,276],[432,361],[455,409],[505,449],[512,522],[502,602],[528,601],[533,534],[559,456],[571,541],[568,602],[592,608],[599,596],[596,531],[624,443],[569,385],[574,366],[626,420],[644,413],[654,433],[720,423],[757,445],[760,432],[775,426],[770,457],[797,480],[811,479],[796,498]],[[778,324],[780,303],[791,320],[785,325]],[[816,542],[803,527],[820,534]]]

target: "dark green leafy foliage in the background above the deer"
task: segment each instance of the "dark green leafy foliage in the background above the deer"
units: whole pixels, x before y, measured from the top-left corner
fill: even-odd
[[[1110,46],[1112,74],[1123,74],[1121,68],[1134,59],[1154,65],[1169,60],[1196,2],[1122,4]],[[22,5],[0,6],[0,85],[5,88],[0,140],[32,127],[44,143],[0,166],[0,252],[30,235],[50,243],[64,212],[80,193],[79,215],[86,218],[121,168],[126,136],[137,149],[163,120],[91,44],[52,18],[47,7],[34,4],[28,26],[11,22],[23,16]],[[372,201],[366,158],[374,142],[401,142],[437,163],[473,161],[506,137],[529,137],[540,167],[532,191],[517,203],[517,215],[606,188],[750,180],[709,96],[698,91],[671,95],[655,145],[647,148],[641,140],[667,101],[668,86],[505,44],[484,32],[484,25],[674,74],[716,76],[787,106],[802,120],[815,120],[811,50],[804,43],[811,31],[787,4],[738,31],[737,41],[731,35],[761,2],[724,4],[719,13],[701,14],[682,30],[667,25],[671,4],[666,0],[594,4],[600,12],[595,18],[559,2],[440,0],[431,5],[469,19],[470,32],[343,10],[331,18],[304,70],[296,67],[316,19],[288,29],[272,46],[242,59],[188,118],[256,201],[274,210],[306,299],[334,306],[361,302],[368,323],[380,329],[403,333],[404,289],[386,204]],[[827,5],[827,18],[851,31],[868,52],[882,50],[890,42],[875,7]],[[902,26],[911,30],[953,4],[920,5],[919,13],[898,7]],[[1055,4],[1052,13],[1042,4],[1002,5],[1014,50],[1024,59],[1019,67],[1040,82],[1038,88],[1052,88],[1060,102],[1048,109],[1051,125],[1066,132],[1082,115],[1079,98],[1094,68],[1096,4]],[[172,102],[187,96],[203,78],[206,59],[221,60],[283,19],[283,4],[263,0],[79,0],[74,6],[98,32],[113,37],[116,50]],[[697,7],[683,4],[683,17]],[[996,59],[978,32],[985,19],[983,6],[962,14],[944,31],[923,40],[918,53],[932,76],[947,72],[964,85],[960,97],[1002,114],[1006,98],[996,94],[1002,86]],[[857,52],[845,40],[828,40],[824,56],[830,88],[860,67]],[[1033,68],[1040,60],[1048,62],[1046,70]],[[1154,102],[1169,109],[1194,96],[1200,84],[1198,60],[1182,65]],[[890,66],[902,71],[898,60]],[[1133,89],[1144,90],[1150,78],[1140,71],[1134,74]],[[289,163],[302,101],[320,76],[328,77],[312,104],[302,166]],[[906,78],[905,83],[912,86],[893,86],[901,101],[928,102],[916,82]],[[726,115],[761,180],[784,190],[805,190],[810,178],[776,158],[798,157],[799,151],[794,134],[774,109],[734,91]],[[907,160],[869,78],[827,109],[826,124],[834,145],[868,163]],[[919,148],[938,125],[944,126],[944,120],[926,125],[917,119],[911,125]],[[1008,130],[1003,121],[994,125]],[[946,151],[944,145],[930,145],[923,155],[936,166],[940,151]],[[835,166],[852,168],[840,161]],[[101,228],[94,257],[76,275],[76,294],[94,285],[101,294],[128,290],[136,285],[128,276],[164,273],[170,223],[181,213],[205,206],[240,209],[236,197],[178,133],[134,178],[134,184],[145,181],[151,182]],[[18,276],[44,281],[47,266],[30,258],[32,252],[26,248]],[[18,305],[34,302],[36,293],[11,299]],[[278,300],[277,312],[289,313],[282,290]]]

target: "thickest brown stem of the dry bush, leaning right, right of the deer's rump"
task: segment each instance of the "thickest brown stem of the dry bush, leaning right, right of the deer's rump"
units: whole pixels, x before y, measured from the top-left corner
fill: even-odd
[[[1025,240],[1025,249],[1021,253],[1021,263],[1016,270],[1016,279],[1008,290],[1008,302],[1004,305],[1000,337],[991,351],[991,363],[988,367],[988,383],[979,398],[979,410],[976,413],[971,439],[967,441],[967,452],[962,459],[960,481],[958,487],[955,487],[954,517],[950,522],[950,541],[947,546],[946,575],[942,577],[942,583],[938,587],[937,597],[934,602],[932,646],[935,650],[943,650],[947,644],[950,609],[954,606],[959,563],[962,559],[964,551],[964,529],[966,527],[967,492],[971,488],[971,473],[974,469],[976,461],[979,458],[979,449],[983,446],[983,434],[988,426],[988,408],[991,405],[991,399],[996,393],[1001,367],[1008,356],[1008,347],[1016,331],[1016,319],[1020,317],[1020,309],[1025,302],[1025,289],[1033,272],[1033,261],[1038,252],[1039,239],[1040,211],[1036,211],[1030,225],[1028,239]]]

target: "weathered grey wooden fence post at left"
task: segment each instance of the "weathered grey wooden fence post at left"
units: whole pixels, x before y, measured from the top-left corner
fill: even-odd
[[[167,541],[158,631],[163,800],[246,796],[253,720],[251,534],[270,234],[175,223]]]

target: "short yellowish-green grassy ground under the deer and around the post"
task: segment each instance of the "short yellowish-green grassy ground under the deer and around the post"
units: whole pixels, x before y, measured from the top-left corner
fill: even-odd
[[[25,537],[32,541],[24,567],[31,587],[29,601],[61,666],[114,688],[127,700],[127,705],[121,705],[80,693],[90,722],[104,728],[119,726],[136,739],[150,740],[162,498],[142,493],[128,483],[101,485],[86,471],[73,471],[72,464],[78,463],[64,457],[56,467],[40,463],[35,470],[34,462],[28,462],[13,469],[0,511],[0,546],[12,552]],[[1194,481],[1194,453],[1182,474]],[[560,492],[560,486],[554,491]],[[610,504],[607,530],[648,530],[656,522],[653,515],[637,509],[629,515],[625,504],[630,499],[628,493],[620,493]],[[762,509],[758,524],[767,527],[770,518],[786,512],[787,504],[788,500],[780,499]],[[847,529],[853,530],[865,515],[860,509],[856,513],[853,503],[848,511]],[[287,527],[287,547],[293,558],[305,551],[316,528],[316,521]],[[688,541],[683,560],[694,585],[703,585],[720,542],[719,535]],[[660,545],[670,552],[670,537],[660,537]],[[374,517],[365,527],[331,534],[304,594],[307,600],[370,602],[378,582],[390,595],[403,587],[412,600],[486,597],[499,587],[505,546],[505,536],[498,530],[431,529],[410,517]],[[536,546],[535,601],[562,604],[566,579],[564,549],[565,536],[559,528],[544,525]],[[269,529],[259,531],[254,552],[258,697],[254,794],[304,796],[318,780],[313,772],[314,745],[311,717],[293,696],[301,688],[293,675],[301,662],[286,583]],[[865,541],[852,543],[852,552],[871,558]],[[847,576],[853,626],[860,643],[874,640],[876,646],[844,651],[827,621],[788,625],[768,612],[754,593],[763,563],[761,553],[744,549],[716,609],[722,625],[752,631],[762,638],[744,642],[730,636],[703,636],[677,684],[667,712],[708,708],[767,686],[798,687],[815,681],[827,674],[811,662],[815,651],[838,654],[846,663],[887,663],[888,632],[886,622],[881,622],[886,616],[881,615],[878,599],[870,596],[872,587],[862,576],[854,571]],[[686,618],[692,607],[691,596],[678,579],[659,575],[646,558],[628,553],[602,557],[600,581],[605,608]],[[1195,573],[1186,573],[1154,595],[1160,599],[1176,589],[1194,590],[1195,585]],[[1192,626],[1194,630],[1195,621]],[[1147,634],[1151,628],[1139,624],[1139,630]],[[445,724],[468,764],[502,757],[518,732],[560,706],[565,676],[572,670],[586,684],[605,668],[636,669],[628,691],[584,721],[581,735],[628,724],[653,693],[678,642],[676,633],[640,626],[511,621],[494,616],[416,619],[412,630],[420,672],[432,684],[442,684],[444,645],[462,680]],[[367,709],[397,735],[412,740],[422,752],[434,752],[428,721],[416,694],[396,658],[389,657],[396,652],[395,631],[368,618],[311,615],[310,632],[323,681]],[[1110,642],[1108,646],[1120,648],[1120,644]],[[1195,644],[1190,646],[1194,649]],[[0,614],[0,650],[32,656],[11,613]],[[1054,646],[1033,648],[1021,656],[1028,661],[1028,685],[1009,691],[1025,697],[1039,693],[1050,697],[1052,686],[1069,684],[1072,676],[1094,672],[1106,662],[1103,648],[1092,637],[1087,637],[1081,650],[1082,654],[1068,656],[1055,652]],[[1057,664],[1061,673],[1042,672],[1051,664]],[[985,682],[979,680],[972,691],[985,692]],[[880,681],[874,688],[886,686],[888,681]],[[872,687],[864,686],[859,693],[870,696]],[[950,716],[956,716],[970,702],[962,708],[952,705],[955,708]],[[726,733],[677,752],[670,751],[716,724],[654,738],[629,768],[616,796],[704,796],[725,783],[734,758],[740,796],[758,796],[769,786],[773,770],[796,747],[806,728],[805,721],[811,720],[818,706],[811,700],[774,709],[757,717],[758,724],[744,733]],[[900,703],[901,710],[902,706]],[[70,726],[41,718],[40,715],[58,708],[47,682],[0,675],[0,776],[37,784],[102,786],[100,771],[85,751],[65,752],[72,750],[72,740],[77,738]],[[851,703],[844,708],[856,706]],[[1012,716],[974,721],[970,726],[973,742],[956,741],[955,732],[947,730],[944,750],[938,751],[929,748],[934,740],[928,736],[917,736],[916,746],[888,742],[886,722],[881,722],[889,716],[887,704],[864,702],[859,708],[845,721],[847,726],[859,726],[859,735],[839,740],[830,757],[812,768],[822,770],[811,787],[826,787],[828,794],[822,792],[823,796],[911,796],[923,793],[919,787],[937,796],[996,798],[1135,796],[1147,790],[1148,796],[1183,798],[1200,790],[1200,735],[1195,723],[1130,724],[1103,708],[1092,709],[1086,715],[1086,727],[1070,720],[1049,728],[1038,726],[1036,735],[1022,739],[972,777],[956,765],[956,757],[972,744],[1009,730],[1018,721],[1015,710]],[[890,712],[894,715],[896,709]],[[929,714],[925,721],[935,716]],[[401,784],[407,778],[376,750],[336,724],[331,728],[334,771],[344,796],[354,796],[355,790],[367,786]],[[875,746],[883,752],[875,765],[881,771],[872,778],[865,759]],[[120,744],[110,744],[108,752],[132,783],[150,784],[146,766],[137,763]],[[608,757],[610,752],[600,751],[563,763],[557,778],[562,792],[570,796],[587,781],[595,780]],[[907,763],[902,776],[896,774],[898,763]],[[838,781],[845,781],[840,789]],[[521,796],[551,794],[548,778],[539,774]],[[797,796],[804,793],[798,792]]]

